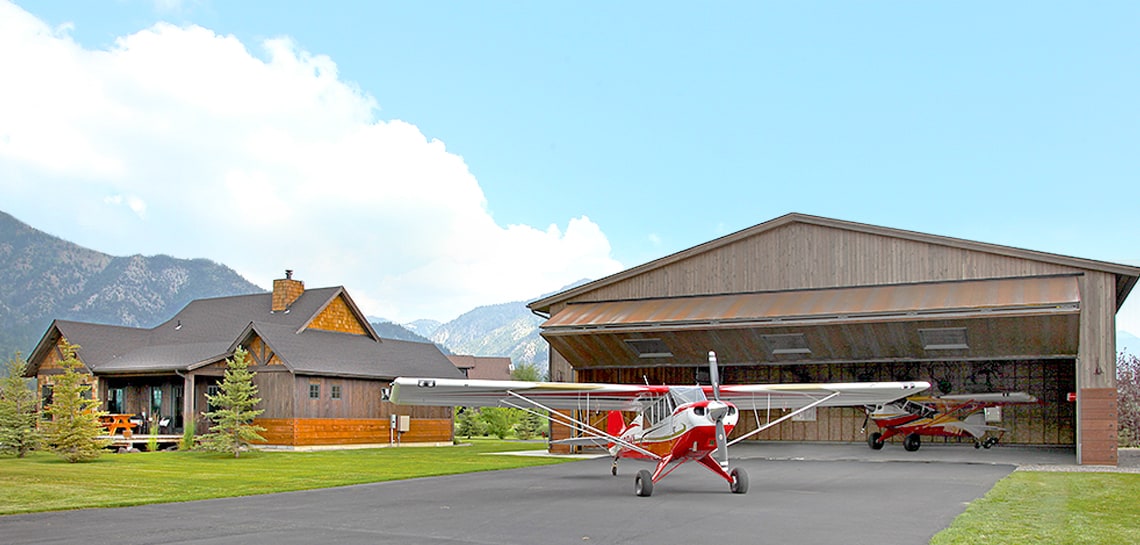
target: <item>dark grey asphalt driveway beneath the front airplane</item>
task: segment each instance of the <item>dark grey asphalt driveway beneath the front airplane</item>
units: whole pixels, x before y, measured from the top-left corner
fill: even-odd
[[[634,496],[648,467],[608,459],[325,490],[0,518],[5,544],[926,544],[1015,465],[741,455],[730,494],[689,464]],[[970,449],[972,450],[972,449]],[[855,450],[853,450],[854,453]]]

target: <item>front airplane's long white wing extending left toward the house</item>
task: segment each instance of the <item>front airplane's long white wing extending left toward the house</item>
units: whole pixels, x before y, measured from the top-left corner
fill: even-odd
[[[399,377],[390,400],[397,405],[453,407],[510,407],[527,402],[553,409],[638,410],[640,400],[669,391],[669,387],[595,384],[585,382],[522,382],[462,379]]]

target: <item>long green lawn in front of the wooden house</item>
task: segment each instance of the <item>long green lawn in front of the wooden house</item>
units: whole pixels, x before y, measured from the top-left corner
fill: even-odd
[[[0,514],[247,496],[561,462],[484,456],[536,448],[542,447],[475,440],[465,447],[253,452],[237,459],[193,452],[107,454],[79,464],[33,453],[0,457]]]

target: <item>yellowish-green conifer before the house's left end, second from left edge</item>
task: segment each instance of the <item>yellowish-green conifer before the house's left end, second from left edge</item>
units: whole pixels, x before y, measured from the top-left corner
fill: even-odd
[[[75,357],[76,349],[79,345],[66,339],[60,342],[63,359],[59,365],[64,374],[56,377],[51,406],[44,408],[51,415],[46,433],[48,448],[72,463],[95,459],[111,445],[109,440],[99,439],[106,433],[99,423],[99,416],[105,413],[99,410],[99,399],[79,372],[83,364]]]

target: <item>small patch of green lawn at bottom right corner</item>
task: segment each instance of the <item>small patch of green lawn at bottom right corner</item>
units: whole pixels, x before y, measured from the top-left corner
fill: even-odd
[[[1140,474],[1017,471],[930,543],[1140,543]]]

